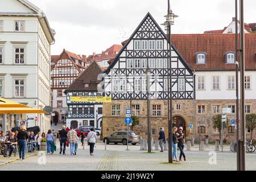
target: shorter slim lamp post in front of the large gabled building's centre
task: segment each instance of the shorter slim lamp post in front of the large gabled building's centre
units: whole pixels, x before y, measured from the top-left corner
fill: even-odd
[[[147,82],[147,151],[148,153],[151,153],[151,133],[150,133],[150,76],[151,76],[151,69],[148,68],[147,64],[147,69],[144,72],[146,75],[146,82]]]

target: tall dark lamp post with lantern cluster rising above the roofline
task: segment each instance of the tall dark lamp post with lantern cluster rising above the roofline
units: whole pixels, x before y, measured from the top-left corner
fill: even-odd
[[[174,25],[174,18],[177,18],[178,16],[172,13],[171,6],[170,6],[170,0],[168,0],[168,12],[166,17],[166,22],[164,22],[162,25],[164,25],[165,30],[168,34],[168,43],[169,43],[169,51],[170,51],[170,61],[168,61],[168,162],[172,163],[172,43],[171,43],[171,25]]]

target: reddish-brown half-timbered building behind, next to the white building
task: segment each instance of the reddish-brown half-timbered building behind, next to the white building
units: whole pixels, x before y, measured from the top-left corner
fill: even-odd
[[[59,56],[52,56],[51,60],[51,105],[55,116],[54,123],[64,123],[68,113],[68,106],[64,90],[81,75],[87,64],[84,56],[66,51]]]

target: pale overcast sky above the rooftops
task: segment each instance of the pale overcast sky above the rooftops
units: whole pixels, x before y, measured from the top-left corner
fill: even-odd
[[[167,0],[29,0],[46,13],[55,29],[52,55],[63,48],[79,55],[100,53],[130,37],[150,12],[159,24],[167,14]],[[228,26],[234,16],[234,0],[171,0],[179,15],[174,34],[203,33]],[[245,0],[245,22],[256,22],[255,0]]]

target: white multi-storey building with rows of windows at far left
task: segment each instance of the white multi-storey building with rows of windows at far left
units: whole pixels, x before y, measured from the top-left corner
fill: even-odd
[[[0,1],[0,97],[39,109],[50,105],[54,42],[42,10],[26,0]],[[7,119],[7,130],[21,120],[42,131],[50,127],[50,117],[44,114],[7,115]]]

